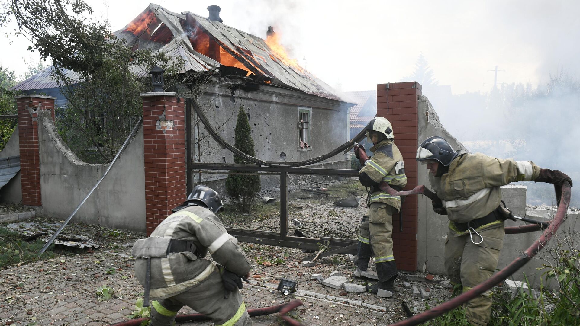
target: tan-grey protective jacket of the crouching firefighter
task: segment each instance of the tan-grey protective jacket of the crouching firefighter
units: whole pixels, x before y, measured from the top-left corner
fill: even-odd
[[[158,255],[164,248],[151,248],[163,243],[160,238],[187,241],[187,251]],[[164,239],[161,239],[164,240]],[[141,242],[139,242],[141,241]],[[169,215],[145,240],[133,246],[135,274],[141,284],[145,284],[146,261],[151,257],[150,297],[161,300],[180,294],[203,282],[216,269],[210,260],[202,259],[207,253],[227,270],[245,276],[251,263],[237,239],[230,236],[222,222],[209,209],[190,206]],[[160,257],[161,256],[161,257]]]

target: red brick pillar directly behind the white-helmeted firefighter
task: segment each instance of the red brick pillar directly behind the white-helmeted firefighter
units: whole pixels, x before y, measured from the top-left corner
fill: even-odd
[[[418,82],[396,82],[376,86],[376,115],[393,124],[395,144],[405,160],[407,187],[413,189],[418,182],[417,137],[419,133],[418,96],[422,86]],[[393,216],[393,244],[397,268],[417,269],[417,195],[410,195],[403,203],[403,231],[399,231],[399,217]]]

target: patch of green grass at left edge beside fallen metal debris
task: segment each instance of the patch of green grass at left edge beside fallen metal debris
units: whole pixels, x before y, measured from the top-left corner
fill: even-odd
[[[45,243],[42,240],[26,242],[19,233],[0,227],[0,269],[54,258],[55,253],[50,251],[52,246],[38,256]]]

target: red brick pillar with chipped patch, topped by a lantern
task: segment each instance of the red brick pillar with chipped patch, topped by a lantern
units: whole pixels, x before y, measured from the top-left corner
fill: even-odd
[[[141,94],[147,234],[186,199],[185,107],[175,95]]]

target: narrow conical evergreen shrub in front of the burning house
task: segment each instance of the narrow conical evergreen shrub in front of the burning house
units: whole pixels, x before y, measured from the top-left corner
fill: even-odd
[[[238,111],[238,119],[235,124],[235,148],[250,156],[256,155],[254,142],[252,139],[252,128],[250,127],[248,116],[244,112],[244,107]],[[236,164],[248,164],[247,160],[235,156]],[[237,171],[241,172],[241,171]],[[256,193],[260,191],[260,176],[258,175],[228,175],[226,180],[226,191],[234,199],[241,212],[249,213]]]

